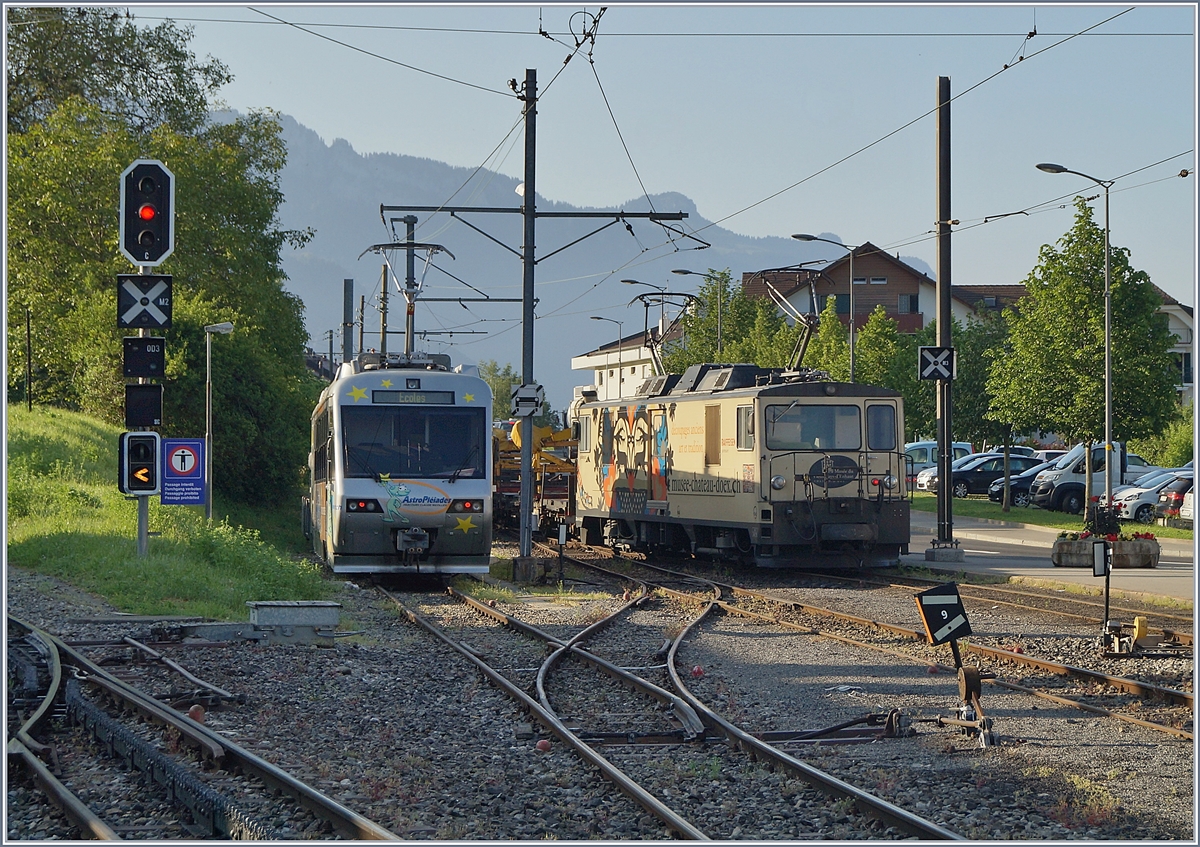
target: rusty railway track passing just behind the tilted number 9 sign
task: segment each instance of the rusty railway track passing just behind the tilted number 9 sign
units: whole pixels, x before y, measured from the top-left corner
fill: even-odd
[[[548,551],[548,548],[547,548]],[[583,564],[581,561],[581,564]],[[678,579],[692,576],[673,569],[659,567],[647,561],[623,559],[622,564],[632,569],[644,569],[658,577]],[[823,577],[824,578],[824,577]],[[948,667],[944,651],[940,654],[926,643],[923,630],[912,626],[874,620],[859,614],[835,611],[791,599],[786,591],[748,589],[742,585],[718,582],[728,594],[722,608],[732,614],[757,617],[797,631],[816,632],[823,636],[850,639],[859,647],[883,650],[910,661],[919,661],[942,672],[958,673]],[[914,611],[914,609],[913,609]],[[833,621],[833,625],[832,625]],[[880,633],[883,635],[881,641]],[[899,641],[898,641],[899,637]],[[1194,697],[1190,691],[1170,687],[1146,679],[1128,678],[1114,672],[1114,660],[1105,661],[1105,669],[1093,669],[1025,653],[1025,648],[1007,641],[1007,647],[988,643],[988,638],[972,636],[964,651],[986,660],[994,667],[1015,666],[1021,671],[1019,679],[984,678],[990,685],[1033,695],[1050,702],[1078,708],[1091,714],[1115,717],[1144,726],[1157,732],[1192,740]],[[1055,649],[1061,642],[1046,639]],[[1082,638],[1075,638],[1070,649],[1079,650]],[[1092,650],[1094,653],[1094,649]],[[1061,655],[1061,654],[1060,654]],[[1120,660],[1116,660],[1120,661]],[[1184,680],[1190,685],[1190,675]]]

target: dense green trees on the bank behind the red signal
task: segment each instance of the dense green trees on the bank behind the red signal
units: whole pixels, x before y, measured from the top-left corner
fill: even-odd
[[[174,277],[162,434],[204,432],[204,325],[232,320],[233,335],[214,344],[214,463],[236,473],[215,483],[241,500],[289,497],[322,384],[304,367],[304,306],[283,288],[282,246],[312,233],[278,227],[278,119],[210,122],[223,66],[197,62],[188,31],[130,20],[10,10],[10,396],[24,371],[28,308],[32,397],[124,421],[128,331],[116,328],[115,277],[132,268],[116,245],[120,174],[158,158],[175,174],[176,244],[157,269]]]

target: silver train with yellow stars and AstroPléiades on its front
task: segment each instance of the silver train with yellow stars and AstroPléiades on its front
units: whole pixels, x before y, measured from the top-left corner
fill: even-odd
[[[361,353],[312,413],[301,522],[334,573],[486,573],[492,392],[445,354]]]

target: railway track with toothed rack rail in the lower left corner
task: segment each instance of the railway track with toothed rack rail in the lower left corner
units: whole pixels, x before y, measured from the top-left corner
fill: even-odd
[[[124,831],[152,839],[272,840],[281,837],[277,822],[287,821],[326,837],[397,839],[12,615],[8,657],[25,681],[12,703],[19,717],[11,727],[8,756],[85,837],[115,840]],[[112,779],[86,780],[86,797],[71,789],[77,774],[96,768]],[[132,800],[122,769],[142,775]],[[112,792],[97,791],[102,785]],[[146,809],[145,822],[133,831],[127,824],[110,825],[108,810],[130,801]]]

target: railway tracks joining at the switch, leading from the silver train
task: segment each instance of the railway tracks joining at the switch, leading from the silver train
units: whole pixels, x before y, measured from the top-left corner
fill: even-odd
[[[649,626],[655,635],[664,626],[686,631],[688,621],[679,619],[678,609],[647,611],[646,606],[653,606],[654,601],[644,590],[574,635],[546,632],[461,594],[451,591],[451,596],[505,630],[515,631],[518,642],[533,644],[538,653],[551,650],[536,669],[536,701],[523,689],[528,687],[527,677],[534,665],[528,661],[530,656],[522,656],[522,648],[516,649],[523,660],[514,661],[514,648],[499,648],[498,633],[493,631],[488,637],[490,647],[481,650],[475,642],[451,638],[428,617],[394,600],[409,619],[457,645],[493,684],[523,702],[560,741],[600,769],[607,780],[662,821],[677,837],[754,837],[754,833],[769,831],[773,817],[798,819],[797,829],[785,833],[799,837],[958,837],[936,823],[823,774],[742,732],[694,698],[685,702],[664,685],[646,679],[646,668],[640,668],[638,674],[622,669],[620,665],[631,659],[626,649],[602,659],[581,647],[599,637],[601,631],[607,633],[628,626],[625,619],[635,613],[658,618]],[[643,621],[640,626],[646,629],[647,624]],[[667,678],[672,663],[670,660],[653,663],[661,639],[652,641],[653,644],[643,643],[642,650],[652,660],[649,672]],[[508,672],[485,661],[485,655],[492,653],[504,655],[502,662],[509,666]],[[516,666],[521,666],[520,671]],[[589,669],[584,671],[583,666]],[[595,671],[604,675],[598,678]],[[660,681],[670,684],[672,680]],[[673,681],[679,685],[678,678]],[[636,696],[630,697],[629,690]],[[600,745],[605,746],[604,753],[596,749]],[[648,755],[648,746],[654,750],[652,755]],[[780,777],[768,769],[768,763],[787,775],[784,785],[779,785]],[[761,795],[764,785],[774,785],[770,792],[774,803]],[[748,810],[740,818],[749,815],[751,819],[739,823],[739,816],[730,813],[731,809]],[[787,837],[787,834],[775,833],[774,836]]]

